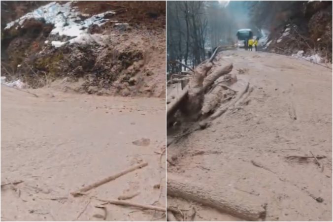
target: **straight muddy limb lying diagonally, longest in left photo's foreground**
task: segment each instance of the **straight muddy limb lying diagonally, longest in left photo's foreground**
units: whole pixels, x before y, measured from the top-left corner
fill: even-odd
[[[97,188],[100,185],[106,184],[107,182],[110,182],[110,181],[112,181],[112,180],[114,180],[114,179],[116,179],[118,177],[121,177],[121,176],[123,176],[123,175],[125,175],[127,173],[130,173],[130,172],[132,172],[132,171],[134,171],[136,169],[140,169],[140,168],[145,167],[147,165],[148,165],[147,162],[143,162],[143,163],[137,164],[137,165],[132,166],[132,167],[130,167],[130,168],[124,170],[124,171],[121,171],[121,172],[119,172],[119,173],[117,173],[115,175],[106,177],[106,178],[104,178],[104,179],[102,179],[102,180],[100,180],[98,182],[95,182],[95,183],[93,183],[91,185],[85,186],[85,187],[83,187],[83,188],[81,188],[81,189],[79,189],[77,191],[71,192],[71,194],[73,196],[78,196],[78,195],[80,195],[83,192],[86,192],[86,191],[91,190],[93,188]]]

